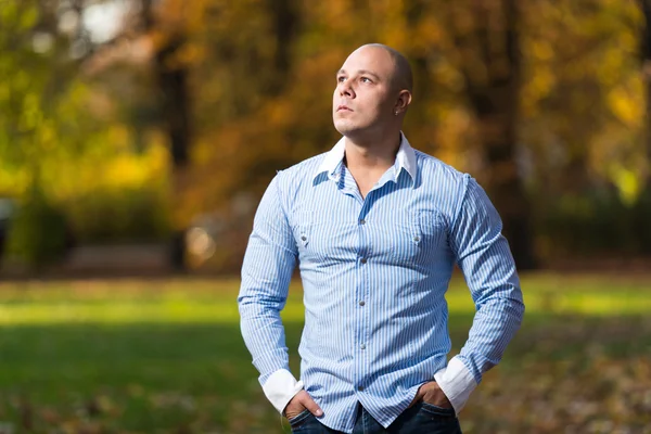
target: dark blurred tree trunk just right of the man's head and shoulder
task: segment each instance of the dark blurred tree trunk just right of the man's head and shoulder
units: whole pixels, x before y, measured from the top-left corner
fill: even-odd
[[[467,3],[468,4],[468,3]],[[456,30],[467,93],[488,166],[485,181],[521,270],[535,268],[531,206],[516,166],[520,91],[516,0],[471,1],[475,26]],[[468,9],[464,13],[471,13]]]

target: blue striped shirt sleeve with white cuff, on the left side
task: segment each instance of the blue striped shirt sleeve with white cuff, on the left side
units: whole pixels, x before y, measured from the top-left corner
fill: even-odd
[[[289,354],[280,318],[296,258],[296,243],[282,208],[277,176],[267,188],[254,218],[242,265],[238,305],[242,336],[253,365],[260,373],[259,382],[281,412],[301,390],[296,390],[297,382],[289,372]]]

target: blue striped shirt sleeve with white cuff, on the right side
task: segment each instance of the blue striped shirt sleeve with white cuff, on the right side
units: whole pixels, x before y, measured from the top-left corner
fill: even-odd
[[[434,375],[457,413],[483,373],[499,362],[524,315],[515,263],[501,229],[501,219],[490,200],[465,175],[449,242],[476,314],[460,354]]]

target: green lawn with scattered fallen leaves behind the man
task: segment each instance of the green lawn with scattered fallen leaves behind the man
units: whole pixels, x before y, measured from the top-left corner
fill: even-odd
[[[651,277],[523,278],[527,312],[464,433],[651,433]],[[239,329],[237,281],[0,283],[0,434],[282,433]],[[458,352],[474,307],[448,293]],[[292,366],[301,289],[283,319]],[[289,427],[284,424],[284,431]]]

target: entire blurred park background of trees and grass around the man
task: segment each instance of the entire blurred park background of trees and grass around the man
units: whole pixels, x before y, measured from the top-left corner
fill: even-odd
[[[0,433],[283,431],[239,267],[276,170],[337,140],[367,42],[410,60],[407,137],[480,180],[522,270],[464,432],[651,433],[650,23],[649,0],[0,0]],[[448,295],[456,352],[474,306]]]

